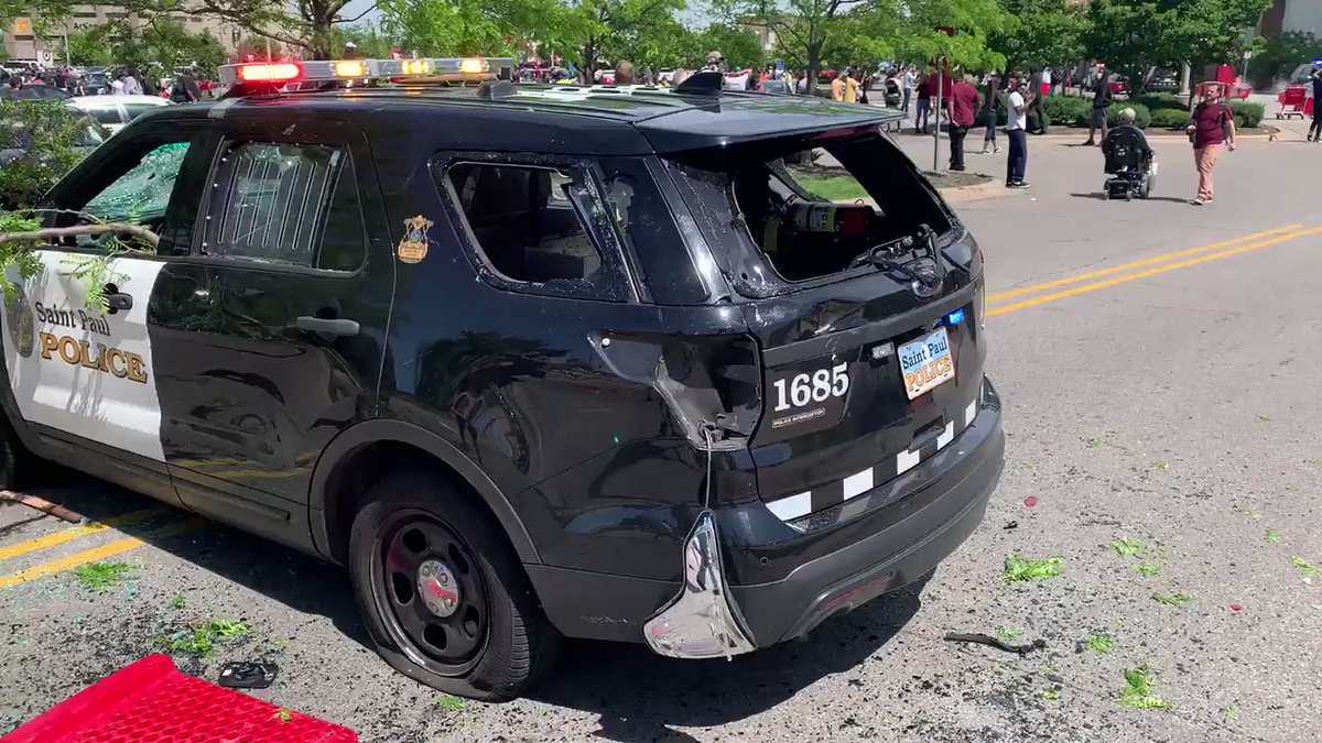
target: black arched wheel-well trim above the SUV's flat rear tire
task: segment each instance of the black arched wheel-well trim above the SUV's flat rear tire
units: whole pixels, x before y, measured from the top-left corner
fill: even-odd
[[[312,542],[325,559],[334,562],[325,517],[327,483],[330,479],[330,472],[353,450],[375,442],[398,442],[418,447],[444,461],[481,496],[486,506],[496,514],[497,521],[500,521],[501,528],[514,546],[520,562],[525,565],[539,565],[542,562],[541,555],[537,554],[537,547],[533,545],[533,538],[529,537],[524,522],[514,513],[514,506],[510,505],[509,498],[492,483],[485,472],[479,469],[453,444],[436,434],[412,423],[382,418],[364,420],[345,430],[327,446],[325,451],[317,459],[316,469],[312,472],[308,521],[312,529]]]

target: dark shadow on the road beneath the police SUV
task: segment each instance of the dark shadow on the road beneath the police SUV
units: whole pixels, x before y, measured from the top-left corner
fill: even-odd
[[[213,521],[163,537],[164,526],[190,514],[63,468],[53,468],[41,487],[26,492],[94,521],[160,508],[159,518],[116,529],[292,609],[325,616],[352,640],[371,646],[357,619],[349,576],[336,566]],[[806,639],[731,661],[680,661],[652,654],[641,644],[568,641],[559,665],[531,698],[600,715],[599,738],[691,740],[670,726],[740,721],[867,662],[914,617],[925,586],[923,579],[828,620]]]

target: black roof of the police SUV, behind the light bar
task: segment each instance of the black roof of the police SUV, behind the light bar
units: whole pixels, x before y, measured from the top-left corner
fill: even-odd
[[[297,91],[176,107],[189,116],[283,111],[385,115],[393,124],[418,119],[447,128],[465,149],[522,149],[564,155],[639,155],[724,147],[738,141],[813,131],[883,124],[896,110],[834,103],[816,97],[734,93],[698,95],[642,86],[506,83],[480,95],[477,87],[390,86]],[[494,90],[494,89],[493,89]],[[221,111],[214,111],[221,108]],[[505,126],[502,126],[505,124]]]

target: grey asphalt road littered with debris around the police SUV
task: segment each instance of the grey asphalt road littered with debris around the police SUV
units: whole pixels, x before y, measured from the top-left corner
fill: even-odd
[[[282,674],[258,697],[371,742],[1315,739],[1322,145],[1245,141],[1198,208],[1183,140],[1157,144],[1157,194],[1132,204],[1097,198],[1100,155],[1073,144],[1031,140],[1030,192],[958,208],[988,260],[1009,461],[982,528],[920,592],[732,662],[575,644],[530,698],[464,703],[364,646],[338,570],[210,524],[161,535],[186,517],[56,473],[46,493],[128,520],[69,537],[0,509],[0,728],[237,619],[246,637],[177,650],[180,666],[214,680],[268,657]],[[1001,175],[1003,155],[970,168]],[[1059,557],[1063,575],[1006,584],[1011,551]],[[128,563],[127,580],[90,590],[70,568],[94,559]],[[1002,629],[1047,648],[943,641]],[[1167,709],[1121,705],[1144,664]]]

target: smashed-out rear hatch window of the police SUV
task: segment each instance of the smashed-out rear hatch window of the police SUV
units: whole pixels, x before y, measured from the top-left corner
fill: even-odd
[[[740,293],[866,270],[866,256],[953,218],[914,164],[878,131],[761,140],[668,161]]]

